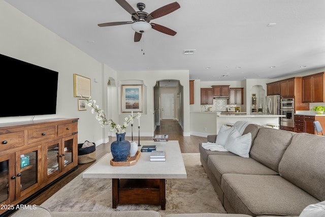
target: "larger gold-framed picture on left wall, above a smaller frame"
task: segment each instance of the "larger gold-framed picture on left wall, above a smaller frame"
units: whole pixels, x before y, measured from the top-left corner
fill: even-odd
[[[81,75],[73,74],[73,95],[74,97],[89,98],[90,94],[90,78],[86,78]]]

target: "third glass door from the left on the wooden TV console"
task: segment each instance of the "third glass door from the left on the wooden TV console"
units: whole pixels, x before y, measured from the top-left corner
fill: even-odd
[[[60,170],[59,146],[60,146],[59,140],[47,145],[47,175],[48,176]]]

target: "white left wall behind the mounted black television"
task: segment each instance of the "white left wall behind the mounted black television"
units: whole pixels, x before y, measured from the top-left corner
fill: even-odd
[[[103,66],[3,0],[0,1],[0,20],[0,53],[59,73],[57,114],[37,115],[34,120],[55,117],[79,118],[78,142],[91,140],[101,143],[107,135],[103,136],[105,133],[89,108],[87,111],[78,111],[78,98],[73,96],[73,74],[90,78],[91,95],[98,100],[99,104],[103,104],[105,99],[102,97],[102,91],[105,81],[102,81],[102,77],[107,82],[108,76],[116,78],[116,72]],[[2,71],[2,73],[11,72]],[[100,82],[94,83],[93,78],[97,78]],[[22,94],[21,97],[26,96]],[[32,96],[28,97],[31,97],[29,106],[32,106]],[[32,116],[3,117],[0,118],[0,122],[31,119]]]

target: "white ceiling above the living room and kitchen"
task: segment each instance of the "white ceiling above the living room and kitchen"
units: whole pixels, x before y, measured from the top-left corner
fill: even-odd
[[[151,21],[176,36],[151,29],[140,42],[130,24],[97,25],[131,21],[114,0],[5,1],[116,71],[189,70],[190,79],[235,81],[325,67],[324,0],[177,0],[180,9]],[[145,3],[147,13],[173,1],[127,0],[137,11]]]

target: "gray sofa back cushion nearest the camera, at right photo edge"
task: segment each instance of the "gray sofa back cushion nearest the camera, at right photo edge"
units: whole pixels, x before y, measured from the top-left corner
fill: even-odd
[[[297,133],[283,154],[279,173],[318,200],[325,200],[325,137]]]

